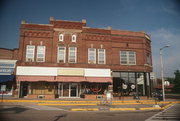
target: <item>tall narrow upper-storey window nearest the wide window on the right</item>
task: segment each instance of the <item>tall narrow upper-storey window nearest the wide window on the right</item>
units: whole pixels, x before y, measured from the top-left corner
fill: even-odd
[[[105,49],[98,49],[98,64],[106,63]]]

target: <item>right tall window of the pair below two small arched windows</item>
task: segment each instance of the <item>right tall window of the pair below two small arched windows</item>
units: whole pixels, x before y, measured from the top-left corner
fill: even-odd
[[[68,62],[69,63],[76,63],[77,56],[77,47],[69,47],[69,56]]]

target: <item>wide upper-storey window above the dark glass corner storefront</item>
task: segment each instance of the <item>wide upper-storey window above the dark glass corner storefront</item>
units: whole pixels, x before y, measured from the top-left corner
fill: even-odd
[[[136,52],[120,51],[120,63],[122,65],[136,65]]]

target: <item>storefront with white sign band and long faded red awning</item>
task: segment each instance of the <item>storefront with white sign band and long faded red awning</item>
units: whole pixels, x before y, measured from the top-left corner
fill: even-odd
[[[96,98],[111,85],[110,72],[110,69],[18,66],[16,81],[19,97]]]

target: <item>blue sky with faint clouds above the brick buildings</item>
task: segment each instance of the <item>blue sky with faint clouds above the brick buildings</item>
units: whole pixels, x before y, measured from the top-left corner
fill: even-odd
[[[20,23],[48,24],[49,18],[81,21],[87,26],[145,31],[151,36],[153,71],[160,77],[160,48],[164,76],[180,70],[180,0],[1,0],[0,48],[18,48]]]

